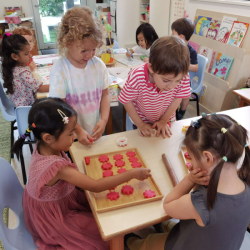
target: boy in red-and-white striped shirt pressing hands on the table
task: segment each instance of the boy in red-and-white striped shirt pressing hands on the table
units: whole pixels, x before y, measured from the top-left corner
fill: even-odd
[[[131,71],[119,101],[140,135],[151,136],[153,129],[157,129],[157,136],[171,135],[167,123],[175,120],[182,98],[190,96],[189,63],[186,44],[169,36],[154,42],[149,63]]]

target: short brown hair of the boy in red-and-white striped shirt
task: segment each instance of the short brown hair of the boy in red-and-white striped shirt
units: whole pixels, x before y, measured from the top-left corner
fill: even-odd
[[[186,75],[190,64],[190,53],[182,39],[165,36],[157,39],[151,46],[149,63],[154,73],[160,75]]]

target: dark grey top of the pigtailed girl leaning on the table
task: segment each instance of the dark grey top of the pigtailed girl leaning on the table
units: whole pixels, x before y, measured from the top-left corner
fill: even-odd
[[[170,231],[164,250],[239,250],[250,222],[250,188],[246,185],[237,195],[218,193],[211,211],[205,187],[192,192],[191,200],[205,226],[181,220]]]

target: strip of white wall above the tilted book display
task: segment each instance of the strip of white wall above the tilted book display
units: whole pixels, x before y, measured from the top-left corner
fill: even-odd
[[[211,10],[218,12],[225,12],[229,14],[250,16],[250,5],[241,6],[234,4],[224,4],[224,3],[215,3],[215,2],[201,2],[201,1],[192,1],[186,0],[186,10],[191,20],[194,20],[195,12],[197,9]]]

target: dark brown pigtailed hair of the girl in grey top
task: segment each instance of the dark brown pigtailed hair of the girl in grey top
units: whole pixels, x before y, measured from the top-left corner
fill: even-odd
[[[227,129],[226,133],[221,131]],[[245,149],[245,159],[238,171],[239,178],[250,185],[250,150],[245,147],[248,141],[247,130],[227,115],[209,115],[198,120],[198,126],[190,126],[184,143],[198,161],[203,151],[210,151],[218,159],[218,165],[211,173],[207,190],[207,206],[211,210],[217,199],[217,188],[221,170],[227,157],[227,162],[234,163],[239,160]]]

